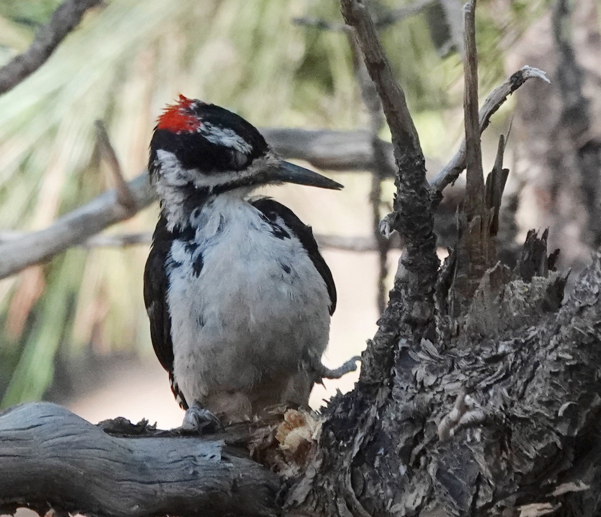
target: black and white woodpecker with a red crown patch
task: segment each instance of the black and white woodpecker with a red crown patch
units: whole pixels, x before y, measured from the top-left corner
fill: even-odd
[[[314,382],[355,369],[321,363],[336,307],[311,228],[268,184],[342,185],[285,162],[258,130],[220,106],[180,96],[157,120],[148,163],[160,217],[144,301],[182,427],[307,406]]]

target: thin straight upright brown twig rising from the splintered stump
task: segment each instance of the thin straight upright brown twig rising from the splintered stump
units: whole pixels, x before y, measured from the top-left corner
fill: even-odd
[[[478,121],[478,52],[476,49],[476,0],[471,0],[465,10],[465,60],[463,75],[465,93],[463,94],[463,112],[465,114],[466,148],[466,187],[465,203],[468,221],[475,216],[484,215],[484,171],[482,168],[482,148],[480,143],[480,123]]]

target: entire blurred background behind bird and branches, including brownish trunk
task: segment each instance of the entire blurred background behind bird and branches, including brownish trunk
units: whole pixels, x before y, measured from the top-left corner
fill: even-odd
[[[29,46],[58,4],[0,1],[0,65]],[[501,223],[508,262],[531,227],[551,227],[562,268],[577,271],[601,242],[599,4],[478,2],[482,100],[525,64],[552,81],[524,85],[484,134],[490,170],[498,137],[513,121]],[[372,0],[371,8],[383,20],[380,35],[434,176],[462,138],[462,2]],[[305,23],[293,22],[298,17]],[[114,187],[94,120],[105,124],[127,179],[144,170],[154,121],[179,93],[258,127],[370,128],[341,23],[334,0],[107,0],[89,11],[40,70],[0,97],[0,253],[2,232],[44,228]],[[379,136],[389,140],[388,130]],[[373,236],[374,207],[379,216],[389,212],[392,180],[374,180],[369,171],[325,173],[344,191],[284,186],[266,193],[317,234]],[[457,182],[437,219],[441,257],[453,242],[461,199]],[[153,204],[106,233],[151,231],[157,213]],[[400,251],[383,261],[371,247],[323,248],[339,300],[328,366],[360,353],[377,328],[379,278],[388,290]],[[0,280],[2,408],[47,399],[94,422],[123,416],[160,427],[181,423],[150,343],[142,300],[147,254],[147,243],[79,246]],[[316,387],[313,406],[351,389],[356,378]]]

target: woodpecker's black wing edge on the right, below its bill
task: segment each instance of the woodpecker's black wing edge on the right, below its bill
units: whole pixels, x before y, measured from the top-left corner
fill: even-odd
[[[334,285],[334,278],[332,278],[332,272],[317,248],[317,242],[315,242],[311,227],[297,218],[296,214],[287,206],[270,198],[260,198],[252,201],[252,206],[263,212],[272,223],[275,223],[278,217],[282,218],[284,224],[298,237],[303,247],[307,249],[307,254],[311,258],[315,269],[322,275],[323,281],[326,283],[330,296],[330,316],[334,314],[334,310],[336,309],[336,286]]]

